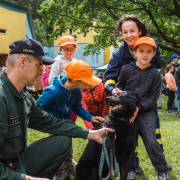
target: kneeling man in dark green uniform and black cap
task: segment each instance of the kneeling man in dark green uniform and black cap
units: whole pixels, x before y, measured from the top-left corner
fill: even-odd
[[[6,74],[0,76],[0,179],[52,179],[71,149],[71,137],[94,139],[102,143],[107,131],[92,131],[71,120],[57,120],[46,113],[23,90],[42,74],[42,64],[52,64],[42,45],[24,38],[13,42]],[[55,134],[27,145],[27,127]],[[40,177],[40,178],[36,178]]]

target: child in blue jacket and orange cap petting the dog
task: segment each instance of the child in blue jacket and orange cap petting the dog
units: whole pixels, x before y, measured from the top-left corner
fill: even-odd
[[[81,90],[87,88],[88,85],[100,84],[101,79],[93,76],[90,66],[81,60],[70,62],[65,70],[67,77],[55,76],[53,84],[43,91],[37,102],[57,119],[70,119],[71,111],[74,111],[82,119],[103,123],[102,117],[91,115],[82,108],[81,104]],[[69,154],[67,158],[71,162],[72,155]],[[61,170],[59,172],[62,173]]]

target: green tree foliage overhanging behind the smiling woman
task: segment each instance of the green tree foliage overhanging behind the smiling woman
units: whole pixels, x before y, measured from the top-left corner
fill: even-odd
[[[58,26],[54,37],[72,28],[84,36],[94,28],[94,46],[118,46],[123,40],[114,34],[119,17],[137,14],[147,24],[163,56],[180,54],[180,4],[171,0],[46,0],[39,13],[45,23]],[[92,46],[89,46],[89,52]],[[87,54],[89,53],[87,52]]]

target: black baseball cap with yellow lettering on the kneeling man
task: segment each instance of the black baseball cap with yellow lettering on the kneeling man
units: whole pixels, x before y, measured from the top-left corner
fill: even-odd
[[[19,41],[14,41],[9,45],[9,48],[11,49],[9,54],[33,55],[42,60],[45,65],[50,65],[55,62],[54,59],[45,56],[41,43],[34,39],[23,38]]]

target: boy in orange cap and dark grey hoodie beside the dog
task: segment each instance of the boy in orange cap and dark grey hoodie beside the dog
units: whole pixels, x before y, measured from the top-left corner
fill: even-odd
[[[158,171],[158,180],[168,180],[166,173],[167,163],[156,138],[156,117],[152,107],[157,102],[160,88],[161,75],[150,64],[156,51],[156,43],[152,38],[141,37],[133,47],[137,61],[124,65],[121,69],[118,88],[134,95],[138,100],[138,106],[130,123],[138,127],[146,151],[153,166]],[[127,180],[135,180],[135,153],[129,166]]]

